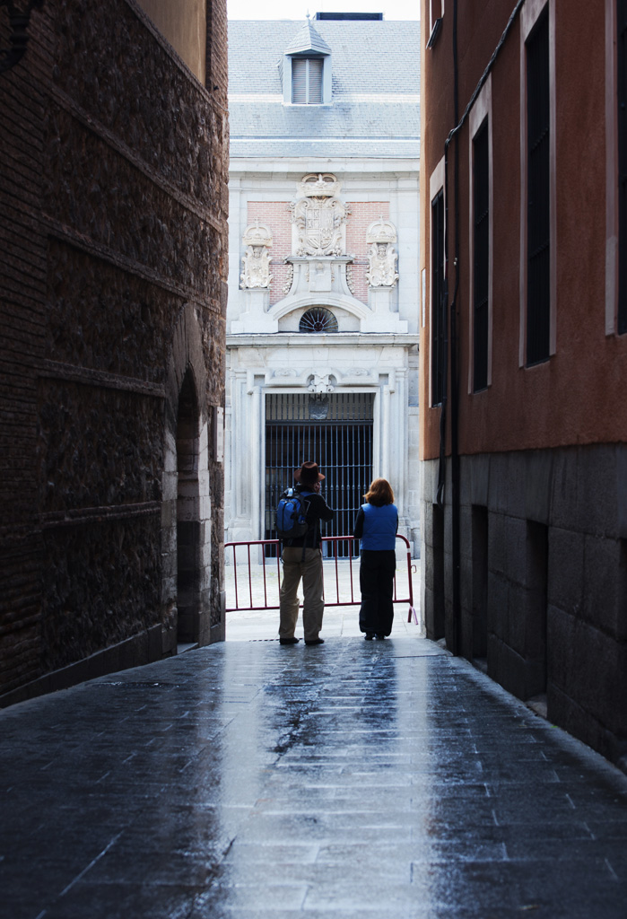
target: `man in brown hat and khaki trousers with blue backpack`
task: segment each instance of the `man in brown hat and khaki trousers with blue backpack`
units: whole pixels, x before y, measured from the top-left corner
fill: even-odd
[[[298,618],[298,584],[302,578],[305,644],[323,644],[319,637],[324,612],[320,520],[332,520],[334,511],[319,494],[324,476],[317,462],[304,462],[294,472],[294,479],[297,482],[294,494],[289,494],[292,492],[289,489],[277,508],[277,529],[283,540],[279,641],[281,644],[300,641],[294,630]]]

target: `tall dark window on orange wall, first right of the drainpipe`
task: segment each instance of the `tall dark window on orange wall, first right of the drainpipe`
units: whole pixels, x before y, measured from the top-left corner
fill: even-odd
[[[487,387],[490,172],[487,119],[473,139],[473,391]]]

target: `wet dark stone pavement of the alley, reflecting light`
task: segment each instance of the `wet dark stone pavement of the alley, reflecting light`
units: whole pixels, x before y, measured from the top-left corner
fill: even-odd
[[[3,919],[627,915],[627,779],[416,633],[35,699],[0,770]]]

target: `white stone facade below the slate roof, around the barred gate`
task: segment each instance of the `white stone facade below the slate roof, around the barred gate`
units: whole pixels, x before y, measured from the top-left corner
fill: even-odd
[[[392,483],[399,532],[418,550],[418,161],[326,162],[323,175],[336,180],[335,220],[328,221],[332,241],[324,239],[318,251],[315,241],[303,245],[302,221],[293,216],[303,179],[318,171],[316,164],[281,167],[277,175],[273,163],[230,165],[226,539],[265,535],[265,396],[360,392],[374,396],[373,477]],[[382,219],[396,233],[397,277],[388,273],[391,283],[373,286],[368,231]],[[244,235],[253,221],[272,233],[272,280],[263,289],[242,289]],[[392,241],[388,230],[383,242],[392,248]],[[333,314],[337,332],[299,331],[314,307]]]

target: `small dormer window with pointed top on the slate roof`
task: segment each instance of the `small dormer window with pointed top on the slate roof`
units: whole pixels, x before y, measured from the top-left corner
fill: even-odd
[[[279,62],[284,105],[330,105],[330,58],[329,45],[308,20]]]

